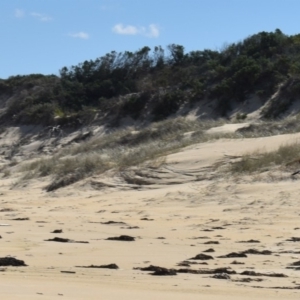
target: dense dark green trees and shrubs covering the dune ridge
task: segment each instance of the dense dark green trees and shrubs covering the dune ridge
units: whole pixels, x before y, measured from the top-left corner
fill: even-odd
[[[10,97],[1,119],[75,125],[96,113],[138,118],[147,109],[153,120],[161,120],[181,105],[203,99],[217,99],[221,115],[226,115],[232,100],[242,102],[253,94],[267,99],[283,83],[285,97],[294,101],[300,96],[298,78],[300,34],[288,36],[279,29],[252,35],[221,51],[185,53],[175,44],[167,49],[113,51],[63,67],[60,76],[0,80],[0,96]]]

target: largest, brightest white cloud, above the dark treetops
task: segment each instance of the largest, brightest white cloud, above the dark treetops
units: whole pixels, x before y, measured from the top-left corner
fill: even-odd
[[[157,38],[159,36],[159,28],[155,24],[150,24],[148,28],[144,26],[133,26],[133,25],[123,25],[122,23],[116,24],[112,31],[116,34],[122,35],[144,35],[150,38]]]

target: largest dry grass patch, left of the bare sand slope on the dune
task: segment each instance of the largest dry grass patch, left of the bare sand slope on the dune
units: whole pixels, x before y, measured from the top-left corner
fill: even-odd
[[[54,190],[93,174],[137,166],[207,140],[204,130],[220,124],[221,121],[199,122],[180,117],[139,131],[118,130],[63,149],[51,158],[23,164],[20,171],[25,173],[23,179],[51,175],[53,181],[48,190]],[[197,134],[185,136],[186,132]]]

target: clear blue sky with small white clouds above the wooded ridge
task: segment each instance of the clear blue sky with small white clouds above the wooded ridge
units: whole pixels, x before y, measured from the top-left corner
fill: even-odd
[[[0,78],[58,75],[113,50],[220,50],[260,31],[298,34],[299,12],[299,0],[0,0]]]

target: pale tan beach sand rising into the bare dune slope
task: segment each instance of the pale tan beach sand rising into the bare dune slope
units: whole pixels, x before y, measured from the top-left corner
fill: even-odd
[[[300,260],[300,242],[287,241],[300,237],[298,180],[208,176],[212,165],[228,162],[225,155],[276,149],[299,138],[298,134],[194,145],[169,155],[150,185],[120,185],[119,178],[106,175],[46,193],[43,181],[11,189],[11,179],[3,179],[0,224],[9,226],[0,226],[0,257],[11,255],[28,266],[2,268],[1,298],[299,299],[299,271],[286,268]],[[107,221],[123,223],[101,223]],[[55,229],[63,233],[51,233]],[[135,241],[106,240],[120,235]],[[45,241],[54,237],[89,243]],[[251,239],[259,242],[241,243]],[[189,260],[209,248],[215,252],[206,254],[214,259]],[[271,254],[219,257],[249,249]],[[184,260],[197,262],[189,267],[193,270],[231,267],[238,274],[230,279],[186,273],[151,276],[134,269],[150,264],[180,269],[184,267],[177,264]],[[120,269],[76,267],[110,263]],[[243,271],[288,277],[241,275]],[[243,278],[252,281],[241,282]]]

